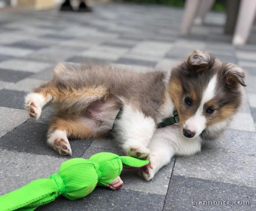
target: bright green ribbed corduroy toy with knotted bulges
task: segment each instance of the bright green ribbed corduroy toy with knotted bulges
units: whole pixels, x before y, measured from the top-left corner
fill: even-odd
[[[148,160],[98,153],[90,159],[73,158],[62,163],[57,174],[37,179],[26,186],[0,196],[0,211],[33,211],[63,195],[69,200],[83,198],[96,186],[120,189],[123,167],[144,167]]]

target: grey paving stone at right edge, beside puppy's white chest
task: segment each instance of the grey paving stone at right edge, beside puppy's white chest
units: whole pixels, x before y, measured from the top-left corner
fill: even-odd
[[[256,133],[227,129],[216,140],[205,141],[205,148],[256,155]]]

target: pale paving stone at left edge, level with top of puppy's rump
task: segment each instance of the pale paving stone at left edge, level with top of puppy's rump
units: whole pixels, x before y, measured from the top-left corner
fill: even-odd
[[[33,62],[30,60],[21,59],[9,59],[5,62],[0,62],[0,68],[32,73],[38,73],[50,66],[51,64],[45,62]]]

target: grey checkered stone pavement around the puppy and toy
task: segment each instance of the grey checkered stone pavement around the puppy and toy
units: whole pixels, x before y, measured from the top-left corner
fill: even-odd
[[[183,11],[161,6],[100,4],[93,13],[0,13],[0,195],[48,177],[70,157],[46,143],[51,106],[28,120],[24,96],[52,76],[56,62],[129,65],[134,71],[169,69],[194,49],[212,52],[247,72],[244,106],[218,140],[202,152],[176,157],[145,182],[124,171],[121,190],[97,188],[88,197],[59,197],[38,210],[256,210],[256,32],[243,47],[223,35],[223,14],[210,13],[190,37],[179,35]],[[73,140],[73,157],[120,153],[109,139]],[[249,201],[250,205],[192,205],[191,200]]]

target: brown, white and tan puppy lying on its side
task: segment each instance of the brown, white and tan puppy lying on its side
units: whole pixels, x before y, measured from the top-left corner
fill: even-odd
[[[45,104],[55,104],[47,142],[61,155],[72,155],[68,138],[106,137],[114,124],[127,155],[150,158],[139,172],[150,180],[173,155],[197,153],[202,140],[227,127],[241,105],[244,80],[237,65],[199,50],[172,72],[62,63],[50,82],[26,96],[25,107],[38,119]],[[175,109],[179,122],[157,128]]]

